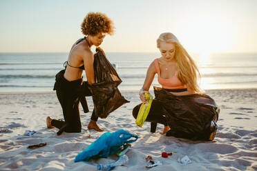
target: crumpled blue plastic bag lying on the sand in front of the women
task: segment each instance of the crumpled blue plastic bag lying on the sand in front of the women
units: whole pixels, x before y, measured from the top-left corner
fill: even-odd
[[[113,133],[106,132],[102,134],[99,139],[91,143],[86,150],[77,154],[75,157],[75,162],[89,161],[91,157],[108,157],[109,155],[115,154],[118,150],[120,150],[122,145],[125,143],[133,143],[137,141],[137,139],[137,135],[131,134],[125,130],[117,130]]]

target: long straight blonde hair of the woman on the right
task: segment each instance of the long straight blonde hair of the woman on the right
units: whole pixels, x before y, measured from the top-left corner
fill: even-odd
[[[198,84],[198,78],[200,79],[200,72],[196,66],[196,63],[188,54],[187,50],[178,41],[177,37],[171,32],[164,32],[160,34],[157,39],[157,47],[160,48],[160,42],[173,43],[175,45],[175,61],[176,68],[178,70],[178,79],[183,84],[186,84],[191,90],[195,92],[202,92]]]

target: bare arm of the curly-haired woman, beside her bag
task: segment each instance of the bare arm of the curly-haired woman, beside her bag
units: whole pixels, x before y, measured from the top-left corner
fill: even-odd
[[[86,52],[83,56],[84,67],[86,72],[86,79],[89,84],[95,83],[95,73],[94,73],[94,55],[92,52]]]

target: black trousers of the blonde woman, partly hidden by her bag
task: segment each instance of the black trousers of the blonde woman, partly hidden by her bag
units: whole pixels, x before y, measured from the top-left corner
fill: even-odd
[[[135,108],[133,108],[133,117],[136,119],[137,114],[140,110],[140,106],[142,105],[136,105]],[[151,104],[151,109],[149,111],[148,116],[146,117],[146,121],[151,122],[151,132],[155,132],[157,123],[161,123],[163,125],[168,125],[166,121],[166,117],[164,115],[164,112],[162,110],[162,103],[157,101],[156,99],[153,99],[153,102]]]

